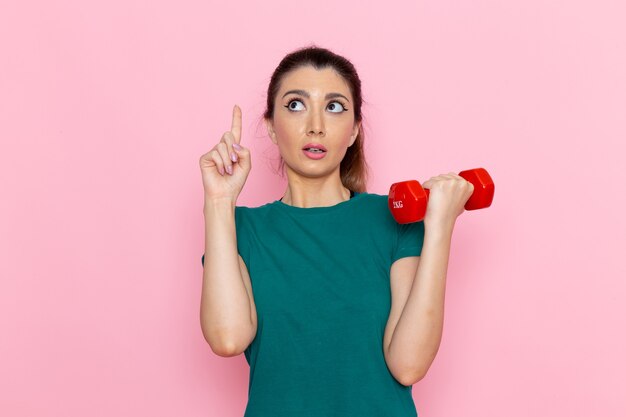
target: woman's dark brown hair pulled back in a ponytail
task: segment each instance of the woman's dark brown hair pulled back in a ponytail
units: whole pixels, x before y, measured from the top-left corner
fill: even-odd
[[[361,80],[359,79],[354,65],[346,58],[328,49],[314,45],[297,49],[286,55],[282,61],[280,61],[278,67],[276,67],[272,74],[267,88],[267,108],[263,117],[269,120],[274,117],[274,100],[280,89],[280,82],[283,77],[288,72],[307,65],[311,65],[317,70],[331,67],[341,75],[348,83],[350,92],[352,93],[354,120],[355,122],[361,122],[363,120],[363,115],[361,114],[361,105],[363,104]],[[365,192],[367,188],[368,167],[365,161],[363,140],[363,125],[361,124],[359,134],[352,146],[346,151],[339,168],[342,184],[346,188],[356,192]],[[285,161],[281,157],[281,169],[284,168],[284,163]]]

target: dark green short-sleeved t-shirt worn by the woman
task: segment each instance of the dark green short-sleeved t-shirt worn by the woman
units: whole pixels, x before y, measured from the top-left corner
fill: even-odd
[[[423,221],[398,224],[387,196],[355,193],[330,207],[237,206],[235,224],[258,318],[244,417],[417,416],[383,335],[391,265],[421,254]]]

